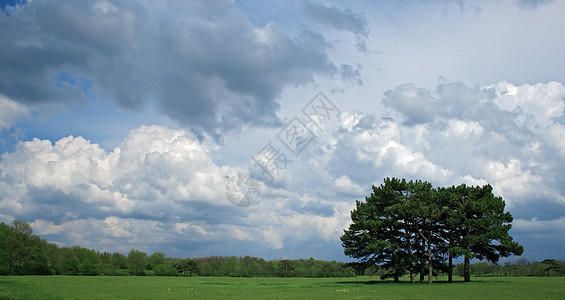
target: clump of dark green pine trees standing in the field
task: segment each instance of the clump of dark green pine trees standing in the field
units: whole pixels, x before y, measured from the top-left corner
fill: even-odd
[[[439,272],[453,278],[453,260],[462,256],[470,281],[470,260],[498,262],[524,248],[508,234],[512,215],[492,186],[434,188],[431,183],[385,178],[365,201],[356,201],[352,223],[341,236],[344,253],[358,261],[358,273],[382,270],[382,279],[405,274],[415,282]]]

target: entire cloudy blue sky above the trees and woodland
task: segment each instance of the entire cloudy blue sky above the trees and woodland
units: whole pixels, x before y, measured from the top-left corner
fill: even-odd
[[[1,221],[343,261],[355,200],[394,176],[490,183],[524,257],[565,259],[563,1],[0,3]]]

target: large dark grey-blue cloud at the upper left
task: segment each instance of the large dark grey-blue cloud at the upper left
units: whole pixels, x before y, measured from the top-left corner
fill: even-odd
[[[84,106],[91,94],[131,110],[156,103],[208,132],[279,125],[285,87],[341,72],[321,34],[253,27],[224,1],[33,1],[1,16],[0,28],[0,93],[10,99]]]

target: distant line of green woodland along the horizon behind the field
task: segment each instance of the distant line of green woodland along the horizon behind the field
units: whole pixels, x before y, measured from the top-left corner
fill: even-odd
[[[108,276],[233,276],[233,277],[349,277],[381,275],[368,268],[356,274],[348,264],[310,259],[265,260],[251,256],[168,258],[162,252],[147,255],[132,249],[122,253],[97,252],[79,246],[59,247],[34,235],[29,223],[0,223],[0,275],[108,275]],[[463,264],[455,266],[463,275]],[[473,276],[565,276],[565,261],[504,265],[477,262]]]

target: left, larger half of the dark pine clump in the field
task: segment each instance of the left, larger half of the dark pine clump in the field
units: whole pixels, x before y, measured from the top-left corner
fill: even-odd
[[[431,282],[439,250],[436,223],[442,215],[433,201],[432,185],[386,178],[372,189],[351,212],[352,224],[341,237],[345,254],[359,259],[358,268],[377,265],[385,270],[381,278],[394,281],[408,271],[414,282],[414,274],[424,274],[427,261]]]

